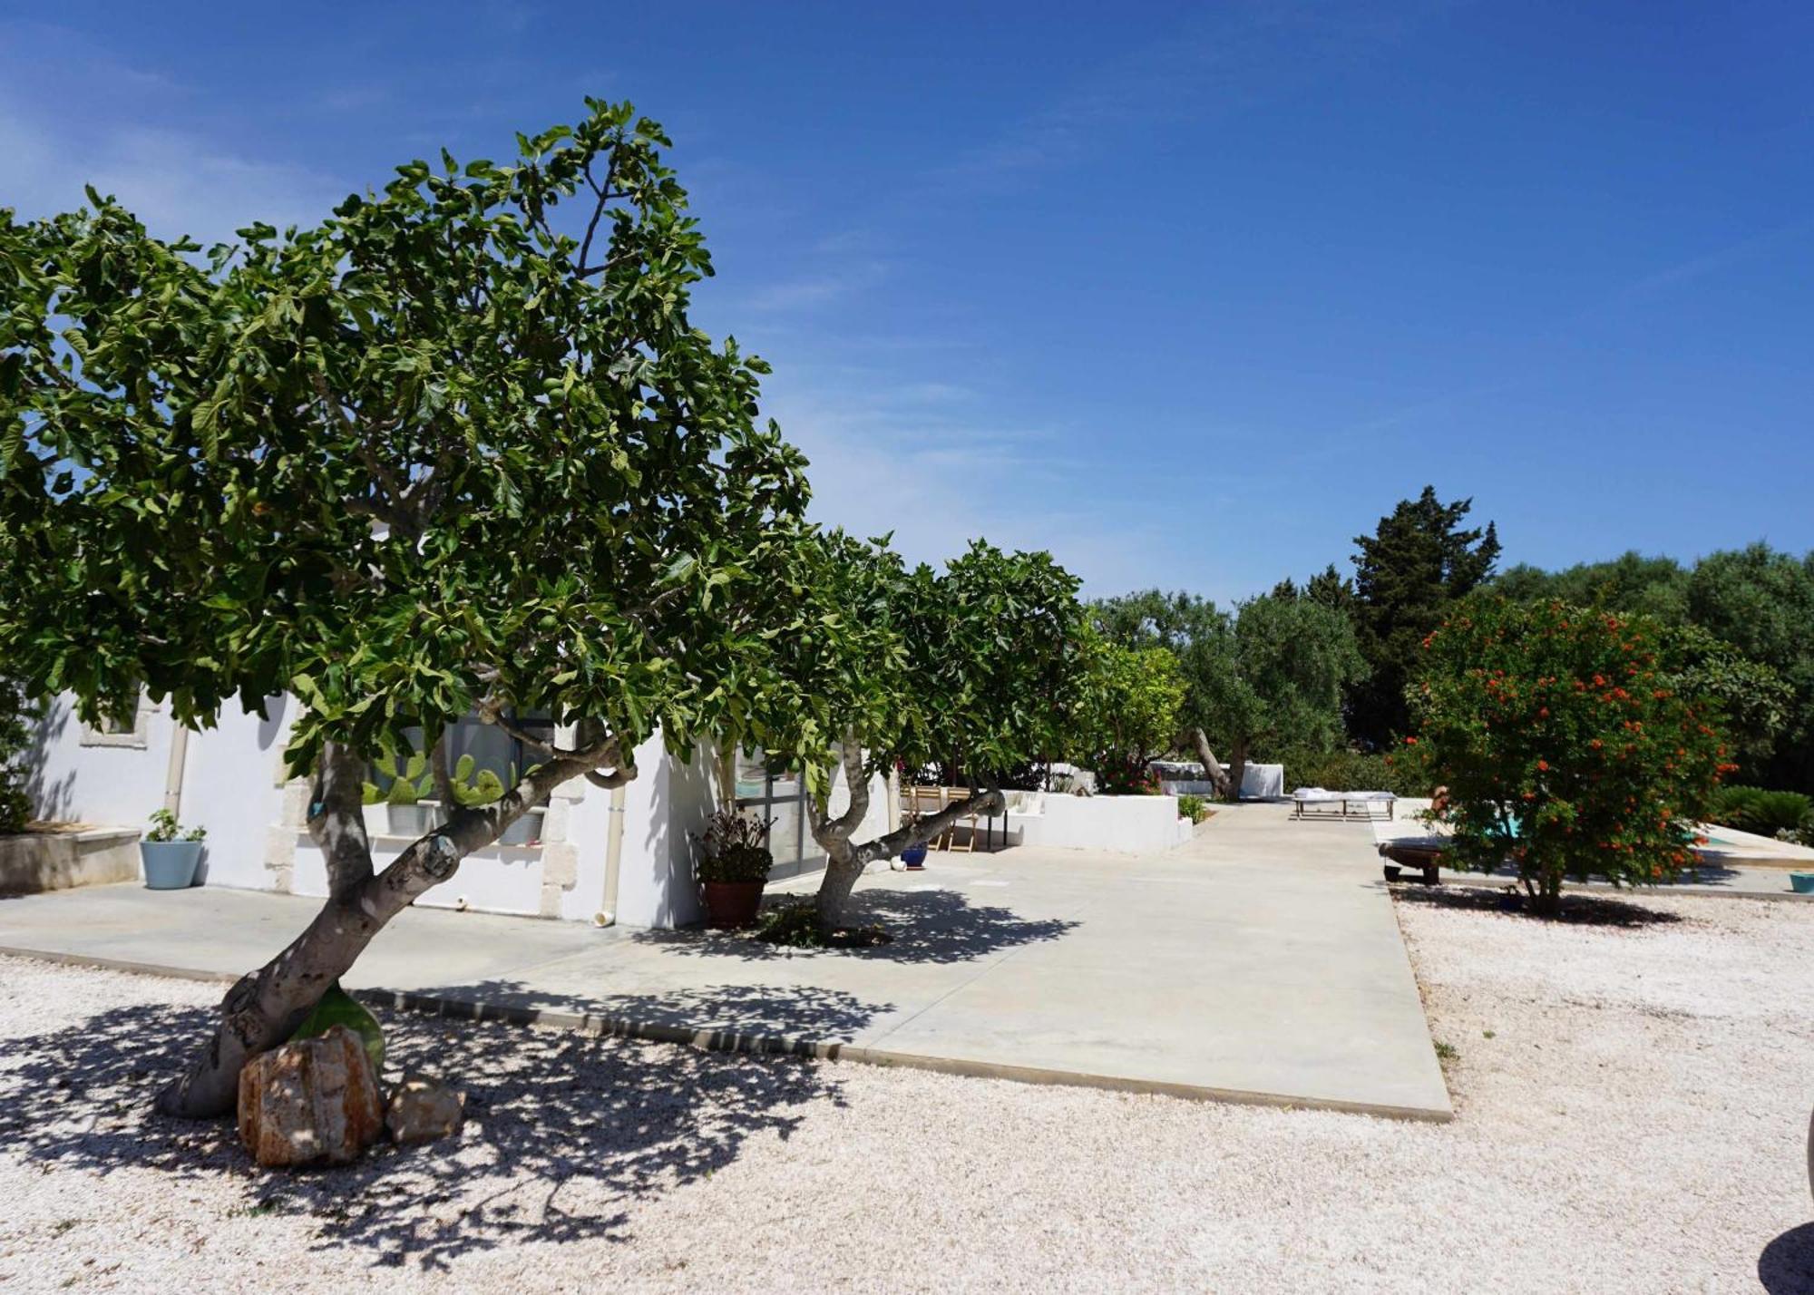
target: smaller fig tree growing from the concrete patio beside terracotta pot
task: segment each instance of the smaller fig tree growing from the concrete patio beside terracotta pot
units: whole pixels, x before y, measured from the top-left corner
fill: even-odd
[[[1076,687],[1083,608],[1078,580],[1048,553],[983,540],[943,571],[909,570],[885,540],[829,533],[809,546],[796,588],[809,633],[778,642],[787,731],[766,747],[807,778],[807,822],[825,851],[824,930],[853,923],[851,894],[869,863],[922,845],[970,813],[998,813],[1000,774],[1054,749]],[[970,800],[856,840],[871,780],[932,760],[963,769]],[[833,813],[842,774],[845,800]]]

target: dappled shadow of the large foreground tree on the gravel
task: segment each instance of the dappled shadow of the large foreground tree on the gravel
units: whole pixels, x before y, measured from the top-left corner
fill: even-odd
[[[738,994],[753,994],[742,1007]],[[776,1018],[789,990],[700,990],[733,1018]],[[853,1028],[871,1008],[809,994],[795,1010]],[[345,1168],[259,1170],[232,1121],[152,1114],[158,1088],[212,1028],[214,1012],[125,1007],[7,1039],[0,1146],[45,1173],[151,1170],[171,1190],[238,1183],[227,1213],[307,1215],[316,1248],[368,1251],[372,1266],[444,1270],[481,1250],[628,1239],[631,1208],[731,1164],[753,1137],[789,1137],[836,1077],[791,1057],[444,1021],[385,1012],[386,1077],[435,1074],[466,1094],[457,1137],[379,1143]]]

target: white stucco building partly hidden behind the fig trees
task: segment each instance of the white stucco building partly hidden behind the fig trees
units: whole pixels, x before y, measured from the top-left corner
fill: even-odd
[[[303,825],[308,784],[285,780],[283,745],[297,702],[270,698],[268,718],[229,702],[214,729],[181,731],[167,707],[141,704],[131,729],[82,724],[67,696],[51,704],[31,755],[31,793],[40,818],[143,827],[172,809],[185,825],[207,829],[201,883],[327,896],[327,869]],[[530,764],[497,729],[464,733],[481,764]],[[464,725],[463,725],[464,731]],[[535,811],[530,843],[492,845],[470,854],[459,872],[417,903],[557,918],[677,927],[700,918],[689,832],[715,805],[709,760],[669,756],[660,736],[637,749],[640,774],[617,791],[575,780]],[[896,811],[880,780],[871,789],[863,834],[887,831]],[[773,818],[773,876],[824,867],[805,831],[800,780],[738,762],[740,803]],[[844,800],[838,787],[833,809]],[[385,867],[410,836],[388,831],[388,807],[368,805],[374,862]]]

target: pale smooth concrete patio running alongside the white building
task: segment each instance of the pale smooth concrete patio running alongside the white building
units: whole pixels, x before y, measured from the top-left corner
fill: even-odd
[[[1224,809],[1163,856],[1025,847],[871,874],[862,894],[896,940],[854,952],[412,909],[348,988],[706,1047],[1448,1119],[1371,832],[1286,813]],[[0,950],[225,979],[314,909],[89,887],[0,903]]]

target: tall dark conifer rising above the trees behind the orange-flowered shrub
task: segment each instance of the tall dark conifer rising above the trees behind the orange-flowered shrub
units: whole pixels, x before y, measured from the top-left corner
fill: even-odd
[[[1368,673],[1348,693],[1348,731],[1362,745],[1386,747],[1404,733],[1406,684],[1419,644],[1449,606],[1493,573],[1498,531],[1466,528],[1471,499],[1444,504],[1433,486],[1404,499],[1357,535],[1355,629]]]

